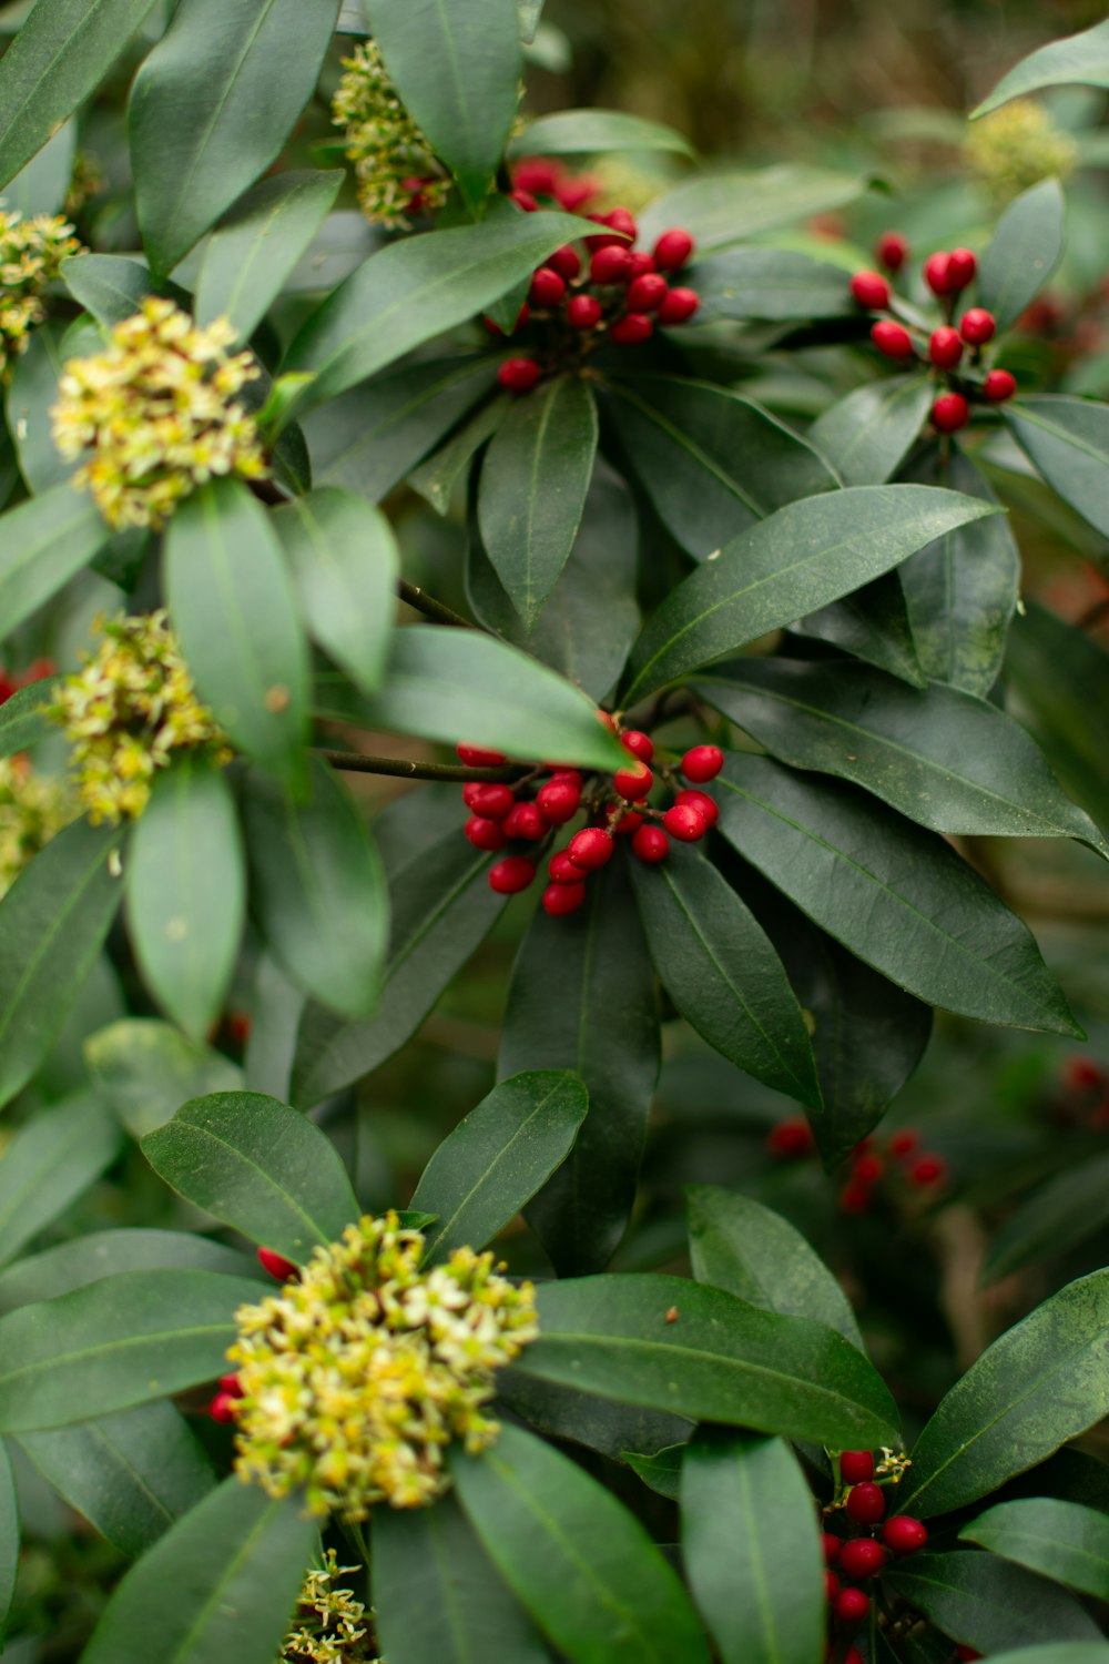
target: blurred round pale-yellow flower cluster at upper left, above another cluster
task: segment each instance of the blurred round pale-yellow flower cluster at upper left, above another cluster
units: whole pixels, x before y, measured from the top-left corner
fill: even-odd
[[[71,358],[55,404],[62,456],[91,456],[73,476],[108,524],[158,529],[214,474],[266,473],[254,418],[234,403],[258,376],[249,353],[228,356],[234,329],[200,329],[173,301],[150,296],[111,331],[103,353]]]

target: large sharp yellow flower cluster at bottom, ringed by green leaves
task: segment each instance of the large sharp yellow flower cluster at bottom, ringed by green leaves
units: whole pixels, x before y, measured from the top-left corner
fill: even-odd
[[[236,1471],[314,1514],[364,1519],[449,1488],[444,1448],[492,1444],[492,1374],[539,1333],[534,1288],[456,1248],[421,1271],[424,1238],[396,1213],[318,1248],[281,1295],[238,1311]]]

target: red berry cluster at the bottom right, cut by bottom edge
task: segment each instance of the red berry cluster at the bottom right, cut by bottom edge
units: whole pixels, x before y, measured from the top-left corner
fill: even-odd
[[[870,1594],[860,1584],[875,1577],[891,1554],[916,1554],[928,1543],[928,1531],[919,1519],[895,1514],[886,1519],[886,1493],[875,1484],[875,1458],[870,1451],[843,1451],[840,1456],[840,1483],[846,1493],[833,1508],[846,1513],[856,1534],[850,1538],[825,1531],[825,1592],[828,1597],[828,1622],[835,1644],[843,1644],[870,1616]],[[831,1509],[825,1509],[831,1513]],[[881,1528],[880,1534],[878,1528]],[[863,1664],[858,1647],[850,1647],[843,1664]]]

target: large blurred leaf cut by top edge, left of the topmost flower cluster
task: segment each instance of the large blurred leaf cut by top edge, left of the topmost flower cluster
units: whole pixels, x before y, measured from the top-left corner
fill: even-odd
[[[131,85],[143,248],[166,276],[274,161],[313,95],[339,0],[183,0]]]

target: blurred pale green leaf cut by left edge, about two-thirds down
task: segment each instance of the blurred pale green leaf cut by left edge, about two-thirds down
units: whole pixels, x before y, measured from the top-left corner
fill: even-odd
[[[0,1265],[111,1166],[121,1142],[115,1117],[88,1092],[40,1112],[10,1137],[0,1161]]]

